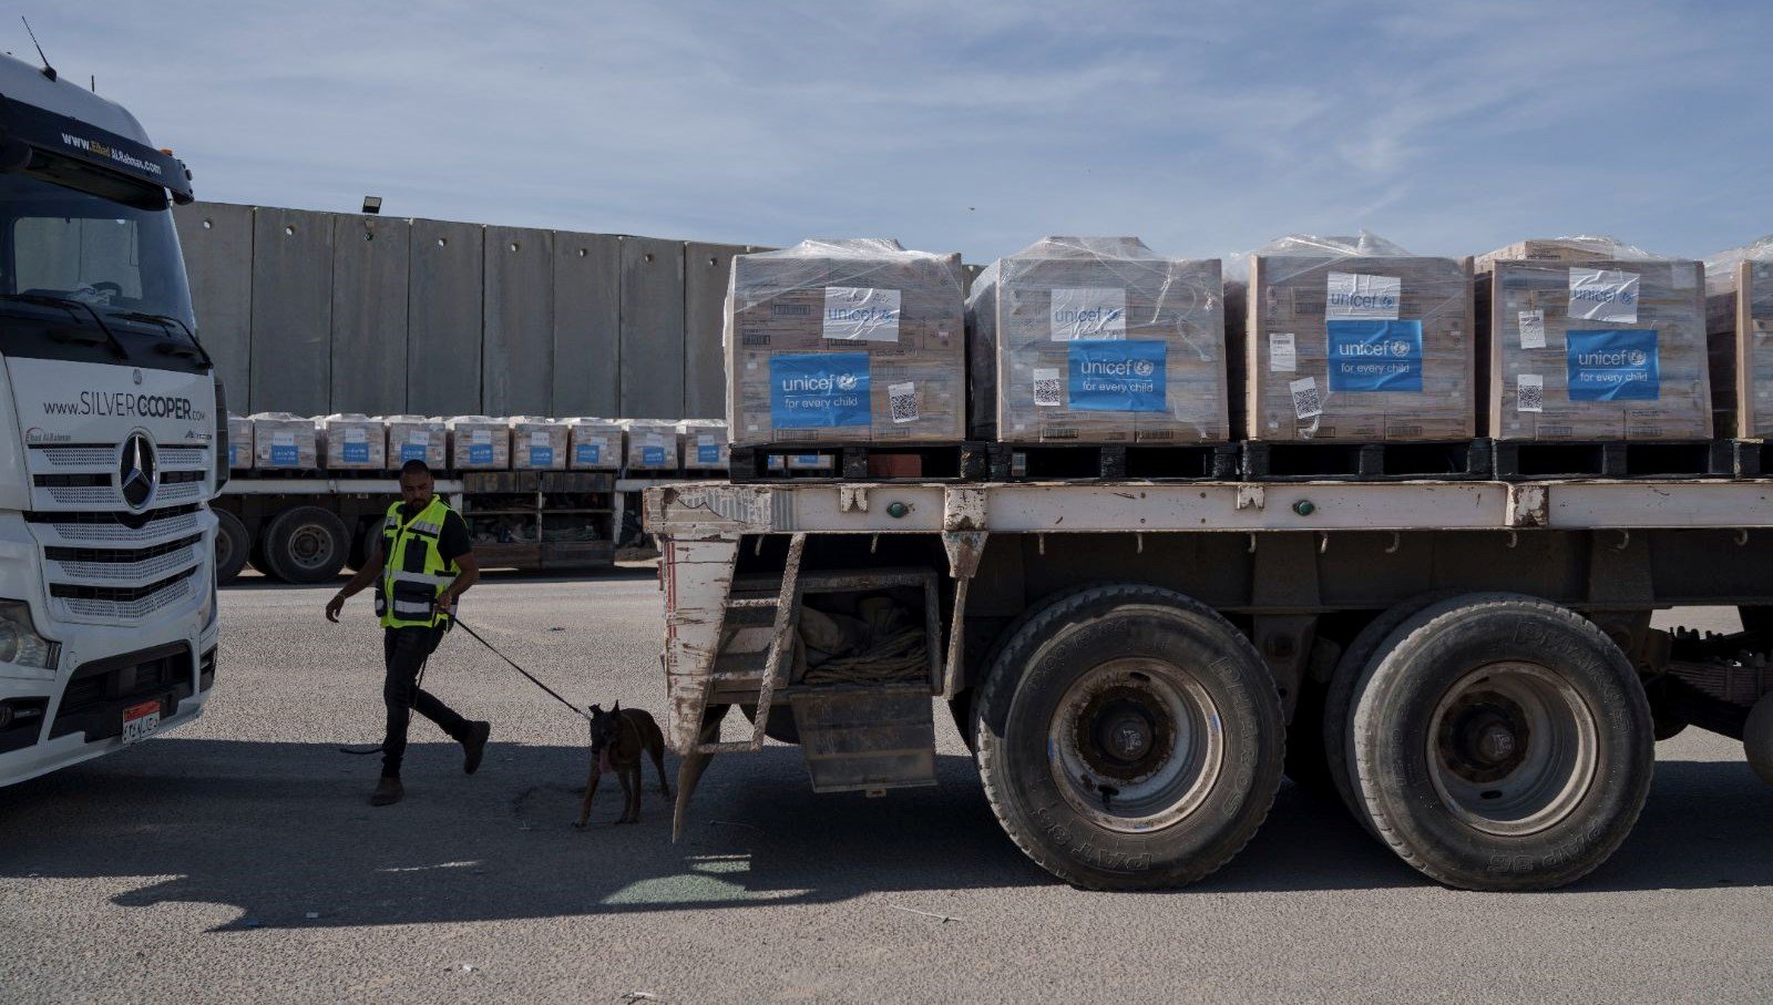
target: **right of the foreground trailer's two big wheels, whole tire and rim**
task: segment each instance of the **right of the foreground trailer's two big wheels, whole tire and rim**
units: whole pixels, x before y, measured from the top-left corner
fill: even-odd
[[[1654,771],[1638,674],[1592,622],[1468,594],[1399,626],[1355,695],[1355,785],[1404,861],[1464,890],[1564,886],[1606,861]]]

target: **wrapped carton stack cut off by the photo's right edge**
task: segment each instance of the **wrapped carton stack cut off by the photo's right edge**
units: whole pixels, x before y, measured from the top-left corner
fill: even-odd
[[[1773,238],[1706,259],[1713,432],[1773,436]]]

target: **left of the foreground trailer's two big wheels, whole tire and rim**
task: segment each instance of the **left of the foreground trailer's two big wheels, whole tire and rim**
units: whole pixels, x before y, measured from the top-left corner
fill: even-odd
[[[1112,734],[1136,737],[1138,760],[1097,743],[1140,714],[1142,727]],[[1262,826],[1285,755],[1280,693],[1250,640],[1206,604],[1145,585],[1085,587],[1032,612],[991,661],[972,725],[986,799],[1011,840],[1092,890],[1211,874]],[[1172,757],[1181,743],[1190,755]],[[1073,776],[1076,757],[1090,760]]]

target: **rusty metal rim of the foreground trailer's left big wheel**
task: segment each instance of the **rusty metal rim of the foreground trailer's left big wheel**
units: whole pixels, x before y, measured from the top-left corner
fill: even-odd
[[[1161,659],[1113,659],[1066,689],[1048,725],[1048,767],[1066,803],[1121,833],[1167,828],[1213,791],[1225,762],[1218,705]]]

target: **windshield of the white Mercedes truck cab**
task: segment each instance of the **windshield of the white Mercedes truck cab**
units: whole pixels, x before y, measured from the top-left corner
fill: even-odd
[[[197,328],[165,191],[39,154],[28,170],[0,174],[0,294]]]

